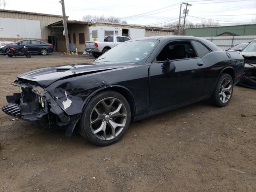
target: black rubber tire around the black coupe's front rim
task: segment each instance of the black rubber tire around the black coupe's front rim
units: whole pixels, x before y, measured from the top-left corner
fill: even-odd
[[[92,133],[92,130],[90,128],[90,116],[94,107],[97,106],[98,102],[100,102],[104,98],[110,98],[110,97],[117,98],[124,104],[127,112],[126,123],[122,131],[115,138],[110,140],[100,140]],[[122,96],[121,94],[115,91],[103,91],[93,96],[90,99],[90,102],[86,105],[78,125],[79,126],[78,132],[84,139],[89,140],[92,144],[95,144],[98,146],[107,146],[107,145],[111,145],[118,142],[122,138],[122,136],[124,136],[124,134],[126,133],[130,125],[130,120],[131,120],[130,106],[127,100],[124,98],[124,96]]]

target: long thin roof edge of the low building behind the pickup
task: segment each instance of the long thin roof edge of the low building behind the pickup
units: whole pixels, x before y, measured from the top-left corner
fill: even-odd
[[[152,27],[152,26],[135,25],[135,24],[118,24],[118,23],[110,23],[110,22],[88,22],[88,21],[67,20],[67,24],[84,24],[89,26],[117,26],[117,27],[129,27],[129,28],[143,28],[148,30],[174,31],[174,28],[170,28],[170,27]],[[63,20],[52,23],[47,27],[52,27],[52,26],[63,26]]]

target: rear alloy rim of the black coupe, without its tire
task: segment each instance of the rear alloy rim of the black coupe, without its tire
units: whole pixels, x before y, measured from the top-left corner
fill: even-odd
[[[232,94],[232,83],[229,78],[224,78],[220,84],[220,101],[222,103],[228,102]]]

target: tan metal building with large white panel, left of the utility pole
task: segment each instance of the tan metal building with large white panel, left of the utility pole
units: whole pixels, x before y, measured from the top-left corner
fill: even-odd
[[[38,39],[54,44],[55,50],[65,50],[62,29],[51,30],[47,25],[62,20],[61,15],[0,10],[0,42]],[[53,38],[52,38],[53,37]]]

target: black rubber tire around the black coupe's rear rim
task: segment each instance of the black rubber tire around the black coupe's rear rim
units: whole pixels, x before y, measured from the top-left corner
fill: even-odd
[[[221,89],[221,84],[222,81],[224,81],[225,79],[230,81],[230,85],[231,85],[231,94],[230,97],[227,99],[226,102],[222,102],[221,98],[220,98],[220,92],[223,92]],[[233,84],[233,79],[229,74],[223,73],[220,75],[220,78],[218,79],[218,82],[216,84],[216,88],[214,90],[214,93],[212,94],[212,104],[214,104],[215,106],[218,107],[225,107],[228,105],[228,103],[230,102],[231,98],[232,98],[232,94],[233,94],[233,88],[234,88],[234,84]],[[225,99],[224,99],[225,100]]]

